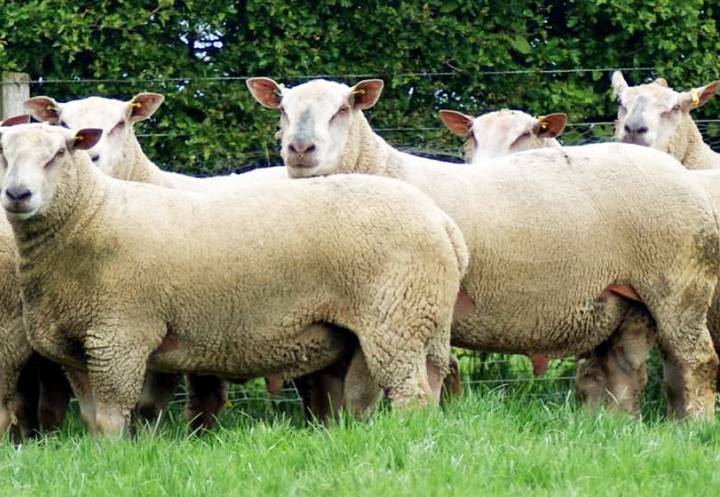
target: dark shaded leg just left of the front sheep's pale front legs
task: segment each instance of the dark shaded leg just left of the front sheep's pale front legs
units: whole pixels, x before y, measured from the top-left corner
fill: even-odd
[[[38,394],[37,418],[41,431],[58,429],[67,413],[70,402],[70,385],[62,367],[42,358],[37,370]]]

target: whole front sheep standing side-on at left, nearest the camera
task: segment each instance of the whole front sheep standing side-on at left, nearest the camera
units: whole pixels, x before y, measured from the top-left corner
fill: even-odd
[[[0,136],[30,344],[84,377],[99,433],[123,432],[146,369],[292,377],[337,362],[353,337],[354,413],[377,388],[397,408],[437,400],[429,377],[446,373],[468,254],[429,198],[370,176],[214,195],[119,181],[81,152],[100,133]]]

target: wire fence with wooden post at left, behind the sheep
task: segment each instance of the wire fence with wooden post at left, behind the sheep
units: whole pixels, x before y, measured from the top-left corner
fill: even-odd
[[[540,74],[563,74],[565,72],[576,73],[592,73],[592,72],[611,72],[616,68],[596,68],[596,69],[558,69],[550,71],[486,71],[483,75],[500,77],[504,75],[517,75],[523,73],[540,73]],[[622,70],[631,70],[635,72],[651,72],[653,68],[620,68]],[[453,73],[417,73],[403,74],[403,77],[442,77]],[[344,75],[312,75],[295,79],[312,79],[316,77],[338,77],[343,79],[359,79],[373,77],[372,74],[344,74]],[[4,119],[12,115],[21,114],[23,112],[22,102],[29,98],[30,90],[34,86],[41,86],[43,92],[52,94],[47,88],[54,84],[68,85],[73,84],[79,87],[78,98],[93,94],[93,88],[96,85],[105,83],[128,83],[131,85],[140,85],[150,82],[187,84],[190,81],[206,81],[212,84],[232,84],[243,83],[246,77],[220,77],[220,78],[165,78],[162,80],[31,80],[27,74],[23,73],[3,73],[2,81],[0,81],[0,116]],[[34,93],[34,92],[33,92]],[[128,92],[130,93],[130,92]],[[548,109],[552,111],[554,109]],[[720,151],[720,119],[708,119],[696,121],[698,128],[705,137],[707,143],[717,151]],[[564,145],[579,145],[587,143],[596,143],[602,141],[611,141],[613,138],[614,123],[611,121],[599,122],[574,122],[569,123],[566,127],[561,141]],[[455,140],[455,145],[448,145],[452,141],[448,140],[449,132],[440,124],[438,119],[437,126],[425,127],[380,127],[375,130],[382,135],[392,145],[410,153],[422,154],[433,157],[440,157],[446,160],[462,161],[462,143],[459,139]],[[241,135],[241,132],[237,132]],[[184,140],[187,134],[174,132],[152,132],[146,131],[138,134],[140,140],[161,137],[170,140]],[[263,165],[279,163],[277,150],[264,149],[256,150],[250,153],[242,154],[241,157],[231,161],[234,164],[226,170],[238,170],[236,164],[257,163],[262,162]],[[222,171],[223,169],[220,169]],[[465,385],[469,387],[517,387],[518,385],[532,385],[531,391],[526,393],[530,395],[551,395],[563,397],[571,390],[574,380],[574,362],[572,360],[553,361],[549,372],[541,378],[532,377],[532,368],[529,361],[524,356],[502,356],[500,354],[484,354],[484,353],[468,353],[458,351],[462,373]],[[651,384],[659,385],[659,377],[657,373],[651,374]],[[552,387],[549,385],[552,384]],[[659,387],[658,387],[659,388]],[[181,398],[176,399],[180,402]],[[276,397],[274,403],[297,403],[299,397],[294,389],[286,389],[283,394]],[[267,397],[260,387],[243,389],[237,388],[231,390],[231,402],[233,403],[252,403],[267,402]]]

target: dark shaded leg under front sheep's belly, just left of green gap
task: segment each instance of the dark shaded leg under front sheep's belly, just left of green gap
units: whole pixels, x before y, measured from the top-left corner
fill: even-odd
[[[215,426],[217,415],[225,406],[227,382],[210,375],[187,375],[188,400],[185,419],[190,431],[209,430]]]

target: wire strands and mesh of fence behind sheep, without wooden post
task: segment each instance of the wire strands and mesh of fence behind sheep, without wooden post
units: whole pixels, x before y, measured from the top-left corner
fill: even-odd
[[[625,68],[551,68],[551,69],[527,69],[527,70],[507,70],[507,71],[478,71],[474,73],[475,77],[502,77],[507,75],[522,74],[545,74],[545,75],[563,75],[569,73],[608,73],[612,71],[634,71],[636,73],[652,73],[655,71],[652,67],[625,67]],[[454,71],[444,72],[416,72],[393,75],[395,77],[407,78],[443,78],[456,76],[458,73]],[[92,94],[93,85],[105,83],[127,84],[128,86],[138,87],[149,83],[163,84],[188,84],[191,82],[200,82],[203,84],[227,84],[229,82],[243,82],[249,76],[219,76],[219,77],[177,77],[177,78],[118,78],[118,79],[43,79],[37,78],[29,82],[32,94],[47,93],[52,94],[53,85],[73,84],[79,85],[81,90],[78,92],[78,98],[89,96]],[[360,79],[371,77],[383,77],[379,74],[315,74],[296,76],[295,80],[309,80],[315,78],[332,78],[332,79]],[[278,78],[281,79],[282,77]],[[0,85],[11,84],[12,82],[0,81]],[[14,84],[14,83],[12,83]],[[714,150],[720,152],[720,119],[708,119],[696,121],[698,128],[708,143]],[[384,127],[375,128],[375,131],[383,136],[393,146],[407,151],[409,153],[440,158],[449,161],[462,162],[463,160],[463,144],[457,139],[457,145],[448,146],[447,136],[450,133],[446,130],[438,120],[437,126],[424,127]],[[227,131],[228,134],[233,131]],[[235,132],[238,135],[241,132]],[[588,143],[598,143],[612,141],[614,134],[614,123],[612,121],[598,122],[574,122],[569,123],[565,132],[560,137],[563,145],[582,145]],[[192,136],[188,133],[162,132],[156,133],[146,131],[139,133],[138,137],[143,139],[161,137],[169,140],[184,140]],[[228,167],[229,171],[242,172],[236,164],[257,163],[259,159],[264,159],[266,163],[279,164],[280,158],[276,148],[268,148],[245,152],[239,157],[231,158],[229,162],[234,163],[232,167]],[[252,169],[254,167],[248,167]],[[219,169],[222,171],[222,169]],[[572,391],[574,382],[574,360],[563,359],[551,362],[551,367],[543,376],[536,378],[532,375],[532,366],[529,360],[524,356],[504,356],[501,354],[487,354],[468,351],[456,351],[461,365],[461,377],[465,388],[508,388],[517,389],[524,388],[524,393],[530,396],[543,396],[545,398],[562,399],[567,397],[568,392]],[[656,368],[657,369],[657,368]],[[659,385],[660,378],[657,372],[651,372],[651,384]],[[657,387],[659,389],[659,387]],[[247,404],[288,404],[297,406],[300,403],[300,397],[297,391],[288,384],[279,395],[269,397],[265,392],[262,383],[255,382],[250,386],[234,386],[230,389],[229,401],[231,405],[247,405]],[[173,400],[173,405],[179,405],[184,402],[185,393],[179,392]]]

